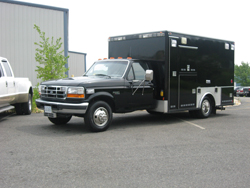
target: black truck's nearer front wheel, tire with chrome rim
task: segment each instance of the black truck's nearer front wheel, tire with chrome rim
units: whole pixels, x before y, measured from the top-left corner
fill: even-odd
[[[104,101],[96,101],[91,104],[84,116],[85,124],[93,132],[106,131],[113,119],[112,109]]]

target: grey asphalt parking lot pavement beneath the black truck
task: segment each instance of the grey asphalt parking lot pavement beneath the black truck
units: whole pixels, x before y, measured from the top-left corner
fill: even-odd
[[[187,112],[114,114],[92,133],[83,118],[0,116],[0,187],[249,187],[250,98],[208,119]]]

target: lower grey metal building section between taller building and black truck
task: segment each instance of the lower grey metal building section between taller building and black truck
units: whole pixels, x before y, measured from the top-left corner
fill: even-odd
[[[69,51],[69,77],[82,76],[86,72],[86,54]]]

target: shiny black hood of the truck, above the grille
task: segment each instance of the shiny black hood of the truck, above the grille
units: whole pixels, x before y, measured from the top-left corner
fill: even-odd
[[[72,77],[64,78],[58,80],[44,81],[41,85],[54,85],[54,86],[83,86],[83,87],[107,87],[107,86],[117,86],[124,82],[123,78],[110,78],[105,76],[82,76],[82,77]]]

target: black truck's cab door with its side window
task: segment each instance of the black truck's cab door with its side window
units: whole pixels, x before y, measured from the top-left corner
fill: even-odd
[[[145,62],[134,62],[130,67],[126,85],[128,87],[128,105],[129,108],[145,109],[152,107],[153,99],[153,84],[149,81],[143,82],[148,66]]]

